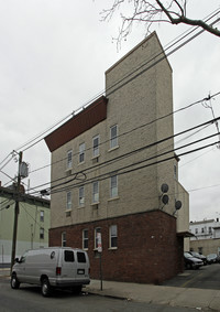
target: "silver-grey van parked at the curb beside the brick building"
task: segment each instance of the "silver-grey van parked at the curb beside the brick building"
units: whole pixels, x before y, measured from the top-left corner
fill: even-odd
[[[15,259],[11,272],[11,288],[20,283],[38,284],[48,297],[52,288],[69,288],[80,292],[90,282],[89,259],[86,251],[68,247],[28,250]]]

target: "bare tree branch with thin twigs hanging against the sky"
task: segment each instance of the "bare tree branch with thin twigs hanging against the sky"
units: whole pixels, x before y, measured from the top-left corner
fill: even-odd
[[[123,4],[124,12],[131,7],[132,10],[130,15],[128,13],[121,14],[122,24],[119,31],[118,42],[130,34],[134,22],[145,23],[147,32],[150,32],[153,23],[168,22],[172,24],[200,26],[205,31],[220,36],[220,30],[213,28],[213,23],[209,24],[207,21],[194,20],[186,17],[187,0],[114,0],[110,9],[101,12],[102,20],[110,20],[117,11],[123,12]],[[220,10],[217,13],[219,12]]]

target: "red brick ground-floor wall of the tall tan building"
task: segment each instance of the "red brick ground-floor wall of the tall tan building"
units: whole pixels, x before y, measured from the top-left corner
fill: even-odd
[[[118,226],[118,249],[109,249],[109,226]],[[176,236],[176,219],[153,211],[50,230],[50,246],[82,247],[82,229],[89,233],[91,278],[99,279],[95,228],[101,227],[102,276],[106,280],[161,283],[183,270],[183,238]]]

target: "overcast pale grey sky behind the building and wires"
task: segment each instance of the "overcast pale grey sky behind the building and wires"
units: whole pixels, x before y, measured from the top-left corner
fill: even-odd
[[[105,72],[144,39],[145,28],[134,25],[127,41],[117,47],[112,37],[118,35],[119,14],[109,22],[100,21],[101,10],[110,3],[112,1],[107,0],[0,0],[2,185],[9,185],[18,170],[15,159],[7,157],[13,150],[19,152],[24,143],[101,93]],[[188,4],[189,18],[194,19],[204,19],[220,10],[219,0],[194,0]],[[219,23],[216,25],[220,28]],[[160,24],[152,31],[157,31],[166,46],[189,29]],[[204,32],[168,60],[173,67],[174,110],[220,92],[220,37]],[[220,116],[220,95],[175,114],[175,132],[213,116]],[[176,138],[176,144],[216,131],[212,125],[188,139],[186,136]],[[220,149],[216,146],[180,158],[179,181],[190,195],[191,220],[220,217],[219,159]],[[23,160],[30,163],[32,171],[30,182],[24,181],[31,187],[50,181],[50,166],[35,171],[51,161],[44,141],[25,150]]]

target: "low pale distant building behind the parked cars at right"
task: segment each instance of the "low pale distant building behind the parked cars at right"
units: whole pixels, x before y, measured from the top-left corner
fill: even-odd
[[[219,218],[190,222],[189,230],[194,234],[190,238],[190,250],[198,251],[204,255],[220,255]]]

